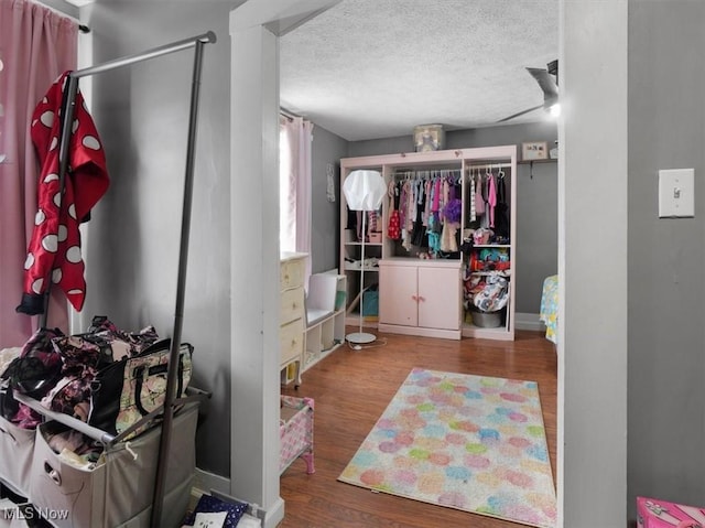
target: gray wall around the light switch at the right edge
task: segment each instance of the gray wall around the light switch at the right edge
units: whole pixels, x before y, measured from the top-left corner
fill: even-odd
[[[674,6],[675,3],[675,6]],[[705,505],[705,3],[629,1],[630,514]],[[658,171],[695,169],[695,217],[658,217]]]

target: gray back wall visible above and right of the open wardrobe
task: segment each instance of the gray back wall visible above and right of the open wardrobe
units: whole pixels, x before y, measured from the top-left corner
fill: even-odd
[[[555,122],[503,125],[446,132],[446,149],[517,144],[557,138]],[[413,138],[355,141],[348,155],[412,152]],[[533,173],[533,177],[531,174]],[[517,312],[538,314],[543,279],[557,272],[557,163],[521,164],[517,171]]]

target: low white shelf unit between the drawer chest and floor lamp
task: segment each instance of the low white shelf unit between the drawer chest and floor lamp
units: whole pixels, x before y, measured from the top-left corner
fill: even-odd
[[[313,367],[345,342],[346,276],[314,274],[308,284],[302,371]]]

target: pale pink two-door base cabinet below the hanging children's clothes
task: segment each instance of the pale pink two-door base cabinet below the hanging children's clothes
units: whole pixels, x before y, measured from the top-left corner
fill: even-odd
[[[460,261],[380,262],[379,330],[460,338]]]

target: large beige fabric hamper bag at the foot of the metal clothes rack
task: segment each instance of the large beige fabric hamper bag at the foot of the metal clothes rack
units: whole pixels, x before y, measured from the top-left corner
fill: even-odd
[[[166,462],[163,526],[181,526],[188,508],[196,465],[195,435],[198,405],[187,403],[174,414]],[[139,437],[107,446],[93,470],[79,468],[55,453],[45,432],[65,427],[46,422],[36,430],[30,479],[32,503],[52,511],[57,527],[149,526],[161,438],[156,425]],[[178,489],[178,492],[175,492]]]

